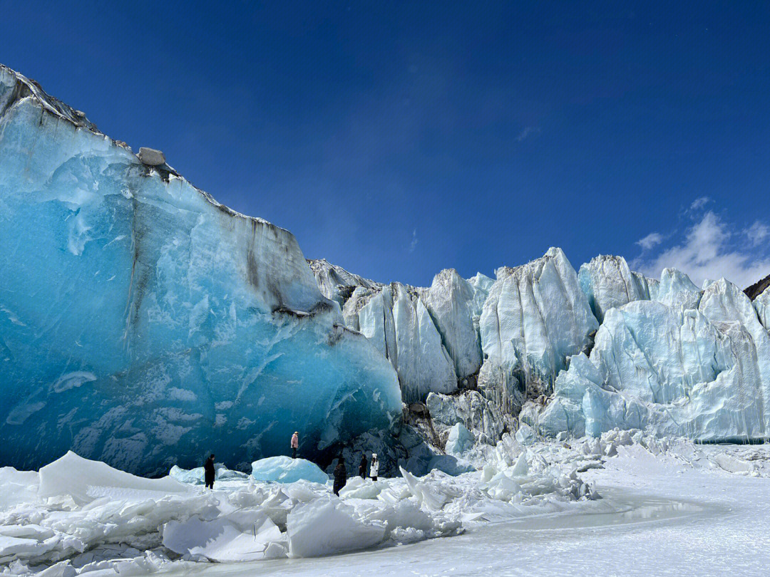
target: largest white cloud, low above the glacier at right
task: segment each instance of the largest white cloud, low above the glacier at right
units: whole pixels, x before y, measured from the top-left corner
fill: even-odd
[[[752,227],[755,234],[765,234],[763,226],[766,225],[759,223],[757,228]],[[685,272],[698,286],[706,278],[725,277],[745,288],[770,274],[770,254],[764,246],[756,250],[757,245],[747,247],[745,242],[738,242],[745,238],[741,232],[740,228],[731,227],[708,211],[688,228],[677,244],[668,248],[661,246],[654,256],[643,253],[631,265],[648,276],[658,277],[663,268],[673,267]]]

